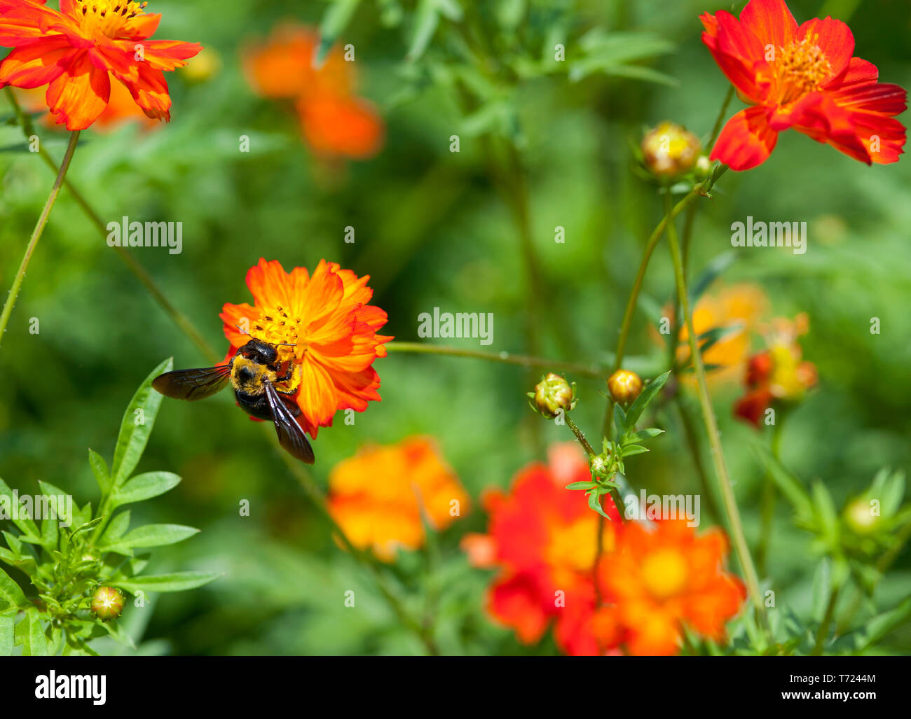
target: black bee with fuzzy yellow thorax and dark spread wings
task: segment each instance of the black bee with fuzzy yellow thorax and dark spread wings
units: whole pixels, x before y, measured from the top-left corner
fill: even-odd
[[[230,382],[241,409],[258,420],[272,420],[279,444],[292,457],[313,463],[313,450],[295,417],[301,408],[289,399],[293,392],[275,388],[276,382],[292,379],[292,363],[283,374],[278,345],[251,338],[226,365],[201,370],[165,372],[152,380],[152,387],[174,400],[203,400],[223,390]]]

